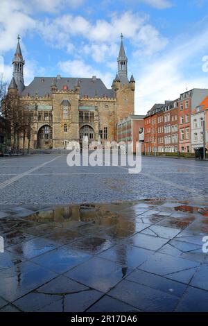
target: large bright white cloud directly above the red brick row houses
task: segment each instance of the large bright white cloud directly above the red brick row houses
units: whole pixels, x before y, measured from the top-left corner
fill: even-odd
[[[164,103],[165,100],[174,100],[194,87],[207,87],[207,75],[202,76],[202,57],[207,50],[207,26],[198,35],[182,38],[176,46],[162,54],[153,62],[148,62],[135,72],[135,79],[139,80],[136,89],[137,113],[146,114],[155,103]],[[191,51],[190,51],[191,49]],[[199,69],[195,75],[190,74],[191,63],[198,58]]]

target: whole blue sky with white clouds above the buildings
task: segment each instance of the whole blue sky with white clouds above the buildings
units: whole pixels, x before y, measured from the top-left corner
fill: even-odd
[[[12,77],[21,36],[24,78],[101,78],[111,87],[123,33],[135,113],[208,87],[207,0],[0,0],[0,72]],[[4,65],[3,65],[4,63]]]

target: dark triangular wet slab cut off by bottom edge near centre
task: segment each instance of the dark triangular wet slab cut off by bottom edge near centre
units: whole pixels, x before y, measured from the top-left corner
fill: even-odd
[[[139,310],[109,295],[104,295],[87,312],[139,312]]]

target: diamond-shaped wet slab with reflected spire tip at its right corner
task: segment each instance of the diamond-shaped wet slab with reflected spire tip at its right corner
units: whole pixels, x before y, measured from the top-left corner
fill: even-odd
[[[65,275],[86,286],[106,293],[120,282],[123,277],[128,275],[130,271],[130,268],[119,266],[116,262],[94,257],[84,264],[73,268],[73,270],[67,272]]]

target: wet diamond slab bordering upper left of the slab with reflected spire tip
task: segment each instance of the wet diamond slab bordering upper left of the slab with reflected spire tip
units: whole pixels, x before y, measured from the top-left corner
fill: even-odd
[[[50,271],[64,273],[74,266],[82,264],[91,257],[92,256],[86,252],[79,252],[73,250],[69,246],[63,246],[50,252],[46,252],[44,255],[34,258],[32,261],[48,268]]]

